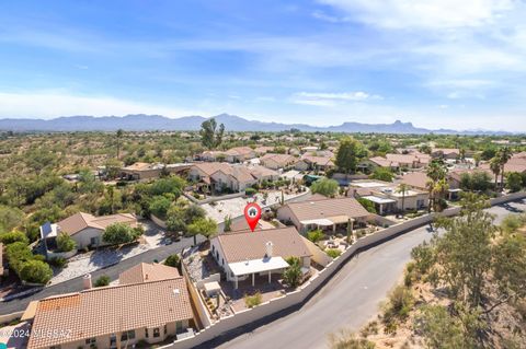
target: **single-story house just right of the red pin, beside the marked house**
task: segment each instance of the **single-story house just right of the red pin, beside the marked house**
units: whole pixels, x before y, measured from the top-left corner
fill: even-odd
[[[277,209],[277,219],[294,224],[299,232],[324,229],[333,232],[338,226],[345,230],[365,224],[370,213],[355,198],[317,199],[289,202]]]

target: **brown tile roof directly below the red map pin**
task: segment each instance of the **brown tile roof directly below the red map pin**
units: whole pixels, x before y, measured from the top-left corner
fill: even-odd
[[[309,248],[294,226],[261,230],[258,232],[235,232],[219,234],[216,237],[221,245],[228,263],[263,258],[265,244],[274,244],[273,255],[283,258],[310,256]]]

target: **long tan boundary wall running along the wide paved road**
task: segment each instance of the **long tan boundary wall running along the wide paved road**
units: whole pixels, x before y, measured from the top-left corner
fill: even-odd
[[[491,205],[500,205],[507,201],[514,201],[517,199],[526,198],[526,193],[515,193],[512,195],[503,196],[496,199],[491,200]],[[441,216],[455,216],[460,212],[459,207],[449,208],[444,212],[439,213]],[[388,229],[381,230],[377,233],[374,233],[368,236],[358,239],[356,243],[350,246],[345,252],[342,253],[339,257],[334,258],[331,263],[327,265],[327,268],[315,275],[306,283],[299,287],[296,291],[287,293],[281,298],[273,299],[268,302],[262,303],[261,305],[253,307],[251,310],[245,310],[237,313],[236,315],[221,318],[215,324],[205,326],[206,328],[197,333],[192,338],[186,338],[182,340],[174,341],[172,345],[165,346],[163,348],[174,348],[174,349],[186,349],[198,346],[206,341],[214,339],[221,334],[225,334],[229,330],[243,326],[248,323],[252,323],[259,319],[262,319],[266,316],[273,315],[279,311],[286,310],[288,307],[299,305],[305,302],[311,294],[316,293],[318,289],[332,275],[334,275],[339,268],[354,254],[369,246],[374,246],[377,243],[392,239],[403,232],[411,231],[415,228],[425,225],[433,221],[435,213],[425,214],[413,219],[408,222],[403,222],[397,225],[392,225]],[[183,271],[184,272],[184,271]],[[198,296],[198,295],[197,295]],[[205,310],[206,311],[206,310]]]

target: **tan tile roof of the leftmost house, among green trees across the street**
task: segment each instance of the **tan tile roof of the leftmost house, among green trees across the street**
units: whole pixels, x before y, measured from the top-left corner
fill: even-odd
[[[137,224],[137,218],[130,213],[94,217],[90,213],[79,212],[59,221],[57,225],[61,232],[73,235],[85,228],[105,229],[113,223],[128,223],[135,226]]]

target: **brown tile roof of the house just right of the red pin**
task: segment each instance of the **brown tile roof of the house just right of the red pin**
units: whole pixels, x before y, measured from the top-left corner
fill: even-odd
[[[354,198],[336,198],[325,200],[307,200],[285,205],[299,221],[347,216],[348,218],[365,218],[370,213]]]

